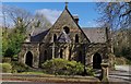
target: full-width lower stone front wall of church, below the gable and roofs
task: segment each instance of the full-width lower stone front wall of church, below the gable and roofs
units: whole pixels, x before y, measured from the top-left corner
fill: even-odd
[[[62,50],[63,59],[75,60],[86,67],[93,67],[93,57],[96,52],[100,55],[102,61],[108,60],[109,58],[106,44],[24,43],[19,61],[25,63],[26,53],[31,51],[33,55],[33,67],[38,68],[46,60],[61,58],[60,50]]]

